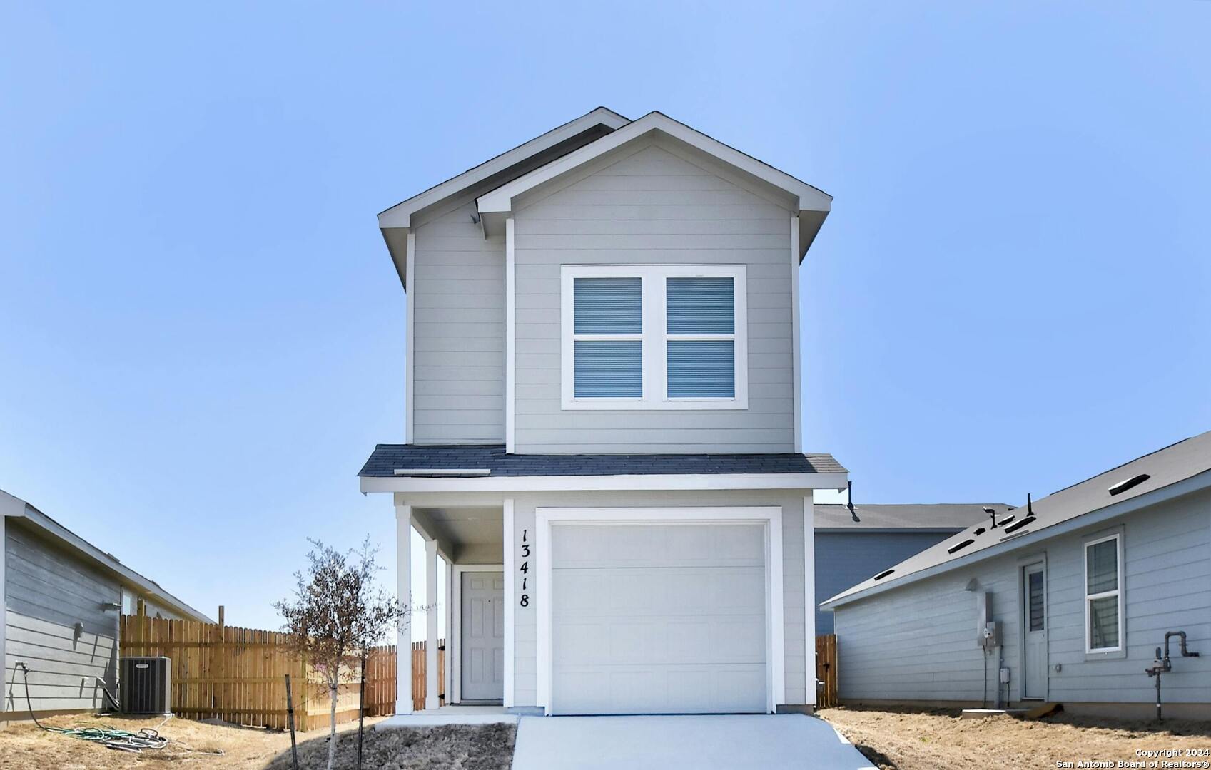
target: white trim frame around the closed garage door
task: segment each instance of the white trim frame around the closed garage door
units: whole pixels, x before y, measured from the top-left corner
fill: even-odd
[[[534,598],[538,605],[538,706],[546,716],[558,713],[552,703],[555,673],[551,616],[551,527],[552,524],[752,524],[765,525],[765,697],[769,713],[786,703],[786,653],[782,617],[782,508],[742,506],[708,508],[535,508]],[[814,643],[813,643],[814,644]]]

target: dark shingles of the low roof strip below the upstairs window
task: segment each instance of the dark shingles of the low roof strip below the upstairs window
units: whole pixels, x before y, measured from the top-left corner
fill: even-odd
[[[846,472],[828,454],[506,454],[504,444],[378,444],[357,475],[394,478],[396,469],[474,469],[492,476]]]

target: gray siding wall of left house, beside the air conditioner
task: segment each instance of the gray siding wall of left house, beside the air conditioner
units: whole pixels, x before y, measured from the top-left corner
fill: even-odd
[[[119,584],[12,519],[6,524],[6,708],[27,707],[17,661],[29,666],[35,711],[104,707],[98,678],[116,693],[117,613],[101,605],[121,601]]]

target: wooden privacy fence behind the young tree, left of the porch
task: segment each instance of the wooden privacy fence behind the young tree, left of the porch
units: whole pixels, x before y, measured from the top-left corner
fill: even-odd
[[[218,624],[124,615],[119,647],[122,656],[162,655],[172,660],[170,703],[179,717],[286,729],[286,674],[291,674],[295,728],[311,730],[328,724],[327,685],[289,650],[283,633],[225,626],[222,611]],[[424,642],[412,645],[417,708],[424,708]],[[440,650],[438,665],[443,662],[444,653]],[[443,668],[438,672],[441,677]],[[338,689],[338,723],[357,718],[361,682],[356,671],[349,673]],[[395,696],[396,649],[372,648],[366,660],[366,716],[395,713]]]

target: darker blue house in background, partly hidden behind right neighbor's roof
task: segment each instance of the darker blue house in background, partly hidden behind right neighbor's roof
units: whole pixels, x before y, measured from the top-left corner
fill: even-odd
[[[837,596],[929,546],[1010,511],[1001,502],[815,505],[816,602]],[[816,633],[833,632],[833,614],[816,609]]]

